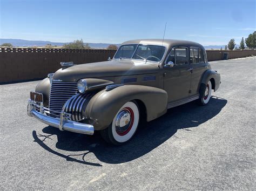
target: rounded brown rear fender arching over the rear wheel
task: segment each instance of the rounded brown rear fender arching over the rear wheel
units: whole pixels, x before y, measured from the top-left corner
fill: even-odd
[[[220,86],[220,74],[217,71],[214,70],[206,70],[203,74],[203,77],[201,79],[201,84],[207,85],[208,81],[210,79],[214,79],[214,84],[212,84],[212,89],[215,91],[218,90]]]

